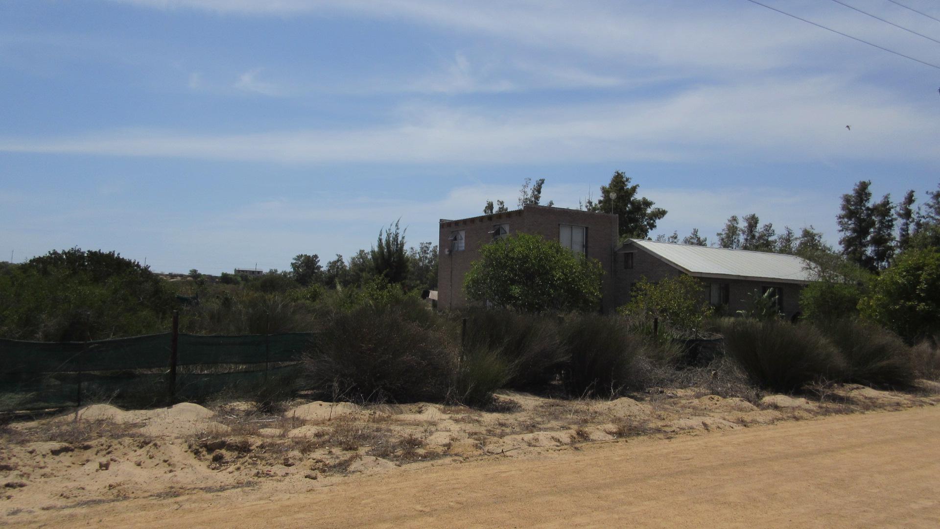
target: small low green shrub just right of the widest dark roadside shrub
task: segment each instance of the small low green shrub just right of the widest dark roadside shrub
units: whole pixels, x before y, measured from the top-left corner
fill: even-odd
[[[450,398],[464,406],[484,407],[493,401],[493,392],[509,382],[512,371],[498,350],[485,345],[464,348]]]

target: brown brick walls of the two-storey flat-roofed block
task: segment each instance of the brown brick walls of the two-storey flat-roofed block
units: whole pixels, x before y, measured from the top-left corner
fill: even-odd
[[[609,311],[616,306],[611,270],[617,245],[617,222],[616,215],[547,206],[525,206],[521,210],[460,220],[441,219],[437,247],[441,252],[437,268],[437,306],[441,309],[466,306],[463,276],[470,269],[470,263],[479,258],[479,248],[493,241],[495,226],[509,224],[509,234],[532,233],[557,241],[559,226],[570,224],[587,228],[587,257],[597,259],[603,266],[603,310]],[[460,231],[463,232],[463,249],[448,252],[452,235]]]

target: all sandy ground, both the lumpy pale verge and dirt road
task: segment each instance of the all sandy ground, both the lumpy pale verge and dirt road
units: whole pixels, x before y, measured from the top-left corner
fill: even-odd
[[[501,400],[99,405],[8,425],[0,525],[940,525],[936,396]],[[859,410],[902,411],[844,414]]]

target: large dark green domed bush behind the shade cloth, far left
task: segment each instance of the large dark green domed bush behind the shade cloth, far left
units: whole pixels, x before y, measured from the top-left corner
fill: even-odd
[[[0,336],[86,341],[160,332],[175,306],[149,268],[113,251],[51,251],[0,274]]]

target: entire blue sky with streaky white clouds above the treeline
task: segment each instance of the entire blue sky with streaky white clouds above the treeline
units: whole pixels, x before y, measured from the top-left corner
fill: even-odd
[[[765,3],[940,65],[940,44],[835,2]],[[846,3],[940,40],[910,9]],[[616,169],[669,211],[658,232],[713,240],[755,212],[836,242],[858,180],[940,183],[937,88],[938,69],[745,0],[6,0],[0,259],[284,269],[399,217],[436,241],[439,217],[514,204],[526,177],[576,207]]]

